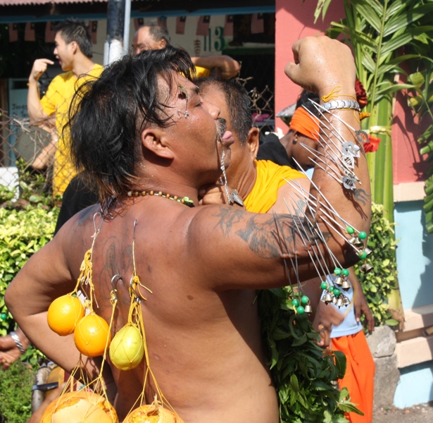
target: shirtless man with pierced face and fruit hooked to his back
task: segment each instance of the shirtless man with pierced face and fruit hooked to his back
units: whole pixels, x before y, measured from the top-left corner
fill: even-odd
[[[334,81],[344,92],[351,94],[354,75],[347,77],[347,68],[343,72],[336,66],[341,57],[347,60],[350,52],[346,47],[339,51],[340,46],[336,43],[329,39],[308,39],[306,44],[299,42],[294,50],[297,64],[293,64],[295,68],[287,69],[291,78],[308,87],[312,85],[322,95],[330,90],[328,87]],[[169,49],[168,53],[170,51],[178,54],[175,49]],[[165,54],[165,51],[146,52],[145,59]],[[301,56],[307,59],[300,60]],[[320,74],[325,71],[323,63],[320,60],[315,63],[324,56],[330,56],[332,62],[327,68],[329,78]],[[132,78],[145,73],[143,69],[148,62],[141,63],[140,60],[140,57],[133,59],[131,64],[125,59],[117,65],[119,72],[124,72],[123,66],[139,68],[137,74],[124,72],[121,83],[130,84]],[[172,59],[167,63],[172,63]],[[302,71],[302,66],[296,68],[300,63],[305,63],[303,66],[309,63],[310,73]],[[349,65],[354,71],[353,63]],[[151,73],[154,69],[148,71]],[[103,82],[97,82],[101,87],[106,84],[101,90],[104,96],[104,90],[110,92],[111,84],[120,83],[113,82],[116,75],[110,72],[103,75]],[[160,123],[155,123],[150,112],[147,118],[151,123],[144,121],[140,125],[134,121],[132,128],[136,128],[138,135],[132,150],[124,135],[125,129],[113,133],[125,142],[123,149],[119,149],[114,135],[99,139],[99,131],[106,128],[102,123],[99,125],[96,117],[87,116],[94,107],[110,107],[106,97],[103,97],[104,101],[99,98],[99,101],[90,102],[84,94],[80,102],[80,106],[89,107],[87,113],[84,109],[81,118],[88,119],[87,129],[95,132],[89,134],[82,130],[80,135],[77,129],[74,133],[73,127],[73,142],[75,137],[78,140],[76,148],[73,145],[73,152],[82,157],[79,163],[88,170],[102,164],[106,166],[100,169],[99,184],[105,197],[109,193],[118,197],[109,210],[114,219],[102,223],[94,244],[93,282],[97,300],[94,308],[109,321],[111,280],[120,275],[122,281],[117,281],[116,286],[119,302],[115,330],[120,330],[126,323],[134,239],[137,275],[152,292],[145,288],[140,291],[146,298],[142,302],[142,312],[150,366],[172,407],[185,423],[277,422],[277,396],[265,366],[267,358],[261,345],[254,290],[284,286],[287,274],[283,258],[295,253],[301,278],[315,276],[308,247],[302,246],[299,233],[293,231],[293,219],[284,215],[250,214],[224,205],[191,209],[168,198],[147,195],[131,199],[126,195],[131,188],[161,190],[171,196],[188,196],[197,205],[199,188],[217,180],[220,164],[230,162],[229,147],[233,141],[224,128],[218,129],[221,123],[218,123],[218,109],[211,105],[204,108],[196,88],[184,78],[185,71],[180,68],[177,72],[168,71],[166,78],[157,77],[158,81],[141,82],[140,90],[151,82],[163,87],[158,88],[162,93],[158,94],[157,100],[163,104],[158,110],[158,118],[165,113],[169,124],[165,125],[162,118]],[[318,74],[325,85],[316,84]],[[170,78],[172,85],[167,82]],[[129,90],[129,86],[124,90],[125,96]],[[88,95],[93,95],[92,91]],[[142,92],[137,97],[143,98]],[[115,97],[115,102],[122,100]],[[352,110],[337,113],[351,127],[358,128]],[[137,112],[137,120],[139,114]],[[125,120],[121,114],[108,117],[107,127],[113,118],[118,119],[118,125],[123,125]],[[80,128],[79,122],[75,125]],[[351,130],[338,120],[333,121],[333,125],[342,136],[353,138]],[[99,155],[92,155],[88,142],[100,149]],[[320,152],[323,150],[319,148]],[[128,159],[132,160],[132,170],[125,159],[128,152],[133,156]],[[364,157],[358,159],[356,172],[368,190]],[[320,169],[315,171],[313,180],[320,185],[323,194],[328,195],[337,213],[353,222],[358,230],[368,229],[368,206],[360,207],[347,200],[341,185]],[[86,209],[66,223],[54,240],[30,259],[6,295],[8,307],[32,342],[65,369],[72,369],[77,364],[78,353],[70,337],[61,338],[50,331],[46,310],[54,298],[75,287],[84,252],[92,245],[94,225],[98,227],[100,223],[98,216],[94,218],[97,212],[97,207]],[[334,257],[343,264],[353,262],[354,253],[343,247],[339,237],[327,233],[320,213],[317,216]],[[134,222],[137,222],[135,235]],[[324,247],[322,254],[327,256]],[[287,271],[295,278],[295,269]],[[25,307],[19,298],[25,298]],[[95,367],[97,372],[97,360],[88,360],[86,364],[87,368]],[[120,372],[111,366],[117,387],[115,407],[121,419],[142,391],[143,366],[129,372]],[[104,374],[107,381],[109,376]],[[146,394],[149,402],[153,397],[151,387],[146,388]]]

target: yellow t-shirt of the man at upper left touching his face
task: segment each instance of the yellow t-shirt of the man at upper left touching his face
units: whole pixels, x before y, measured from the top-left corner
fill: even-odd
[[[53,192],[55,195],[63,194],[70,180],[77,173],[70,159],[70,147],[68,137],[63,139],[63,126],[68,123],[69,106],[72,102],[75,90],[83,82],[90,78],[98,78],[103,71],[103,66],[95,64],[92,71],[76,78],[69,71],[57,75],[51,81],[46,94],[41,99],[42,109],[48,116],[56,114],[56,130],[58,142],[54,154]]]

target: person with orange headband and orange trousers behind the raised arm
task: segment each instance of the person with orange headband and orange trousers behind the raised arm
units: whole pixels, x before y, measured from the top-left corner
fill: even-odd
[[[311,154],[308,154],[308,149],[301,145],[306,144],[313,149],[317,146],[318,109],[311,102],[318,103],[318,95],[303,91],[296,103],[297,108],[291,118],[287,135],[284,135],[281,140],[278,140],[276,135],[271,137],[268,135],[258,150],[258,157],[289,165],[291,158],[296,157],[296,161],[303,168],[313,166],[308,157]],[[348,388],[351,401],[357,404],[358,409],[364,413],[361,416],[351,412],[348,413],[347,418],[351,423],[370,423],[372,422],[375,362],[365,339],[362,324],[360,324],[360,316],[365,315],[365,323],[369,331],[375,329],[375,320],[358,277],[353,269],[349,271],[349,279],[353,288],[345,295],[352,301],[350,308],[339,309],[332,303],[325,305],[324,302],[319,302],[314,326],[320,331],[321,345],[330,345],[332,350],[341,351],[346,355],[346,374],[339,381],[339,387]]]

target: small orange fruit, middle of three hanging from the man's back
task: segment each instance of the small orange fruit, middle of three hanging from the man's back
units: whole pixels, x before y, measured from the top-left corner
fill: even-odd
[[[108,323],[97,314],[89,313],[75,326],[74,342],[80,353],[87,357],[103,355],[108,340],[111,342],[111,333]]]

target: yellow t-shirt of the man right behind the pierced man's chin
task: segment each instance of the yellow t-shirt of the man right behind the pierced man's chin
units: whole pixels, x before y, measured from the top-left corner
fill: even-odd
[[[289,166],[280,166],[270,160],[255,160],[256,183],[244,200],[246,210],[253,213],[268,213],[278,197],[278,189],[286,184],[285,179],[306,178]]]

